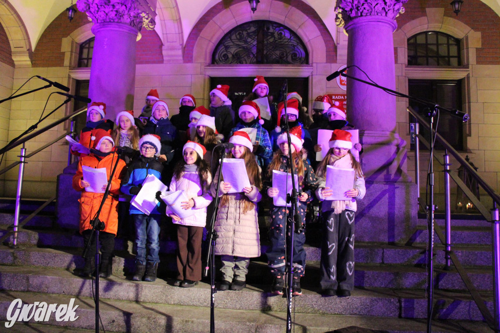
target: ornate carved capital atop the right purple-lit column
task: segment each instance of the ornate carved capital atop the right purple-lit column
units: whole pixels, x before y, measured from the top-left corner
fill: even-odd
[[[343,26],[348,21],[361,16],[385,16],[395,19],[404,12],[403,3],[408,0],[337,0],[335,23]]]

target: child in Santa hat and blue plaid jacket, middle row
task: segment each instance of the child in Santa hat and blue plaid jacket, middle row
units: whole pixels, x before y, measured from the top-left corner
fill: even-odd
[[[245,100],[241,103],[238,113],[241,121],[238,122],[236,127],[231,129],[231,135],[241,128],[255,128],[257,133],[253,153],[257,158],[258,166],[265,169],[272,156],[272,147],[269,140],[269,133],[262,127],[264,121],[260,118],[260,108],[255,102]]]

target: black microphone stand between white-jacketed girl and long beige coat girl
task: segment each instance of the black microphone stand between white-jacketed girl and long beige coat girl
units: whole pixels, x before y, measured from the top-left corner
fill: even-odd
[[[216,147],[213,148],[215,150]],[[220,145],[221,149],[221,158],[219,165],[219,172],[217,178],[217,186],[215,187],[215,197],[213,199],[213,214],[210,219],[210,224],[208,225],[207,235],[208,235],[208,251],[206,252],[206,260],[205,260],[205,268],[203,270],[203,276],[208,276],[208,269],[210,269],[210,333],[215,332],[215,241],[218,237],[217,231],[214,230],[215,219],[217,218],[218,213],[218,202],[219,202],[219,188],[220,188],[220,179],[222,175],[222,163],[224,162],[224,146]],[[213,151],[212,150],[212,151]],[[213,154],[212,154],[213,155]]]

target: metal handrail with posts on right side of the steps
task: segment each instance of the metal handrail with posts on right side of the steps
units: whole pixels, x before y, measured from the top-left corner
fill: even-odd
[[[430,148],[429,142],[425,140],[419,133],[418,127],[419,125],[423,126],[427,130],[431,130],[432,134],[435,134],[436,140],[441,143],[444,148],[444,155],[441,158],[437,155],[437,152],[432,152],[432,156],[430,158],[435,158],[441,165],[444,166],[444,184],[445,184],[445,233],[441,231],[438,225],[435,225],[435,232],[441,241],[441,243],[445,246],[445,269],[449,268],[450,262],[456,268],[456,271],[460,275],[465,287],[469,291],[472,299],[476,303],[479,311],[482,316],[488,323],[488,325],[494,331],[500,331],[500,218],[498,213],[497,204],[500,203],[500,195],[496,192],[489,184],[486,183],[484,179],[476,172],[476,170],[441,136],[437,133],[433,128],[430,128],[427,121],[418,113],[416,113],[411,107],[406,108],[407,111],[415,117],[417,123],[415,126],[415,172],[419,173],[419,143],[420,141],[427,147]],[[492,198],[493,207],[490,210],[490,214],[488,214],[488,210],[484,205],[480,202],[478,198],[470,191],[465,183],[461,181],[455,171],[449,169],[449,155],[448,152],[451,153],[455,157],[455,159],[460,163],[460,165],[466,169],[466,171],[477,181],[477,183],[484,189],[484,191]],[[493,266],[493,315],[491,315],[489,309],[486,307],[484,299],[482,299],[481,295],[477,291],[477,289],[472,284],[470,278],[468,277],[465,269],[461,265],[454,251],[451,250],[451,214],[450,214],[450,186],[449,186],[449,178],[453,179],[458,187],[463,190],[465,195],[474,203],[474,205],[478,208],[479,212],[484,216],[484,218],[491,222],[492,225],[492,266]],[[419,178],[416,178],[417,182],[417,191],[418,191],[418,204],[422,207],[425,207],[425,202],[423,202],[420,198],[420,185]]]

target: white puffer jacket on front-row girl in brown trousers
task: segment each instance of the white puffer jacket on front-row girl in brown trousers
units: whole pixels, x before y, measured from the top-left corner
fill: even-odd
[[[194,206],[191,208],[195,213],[191,216],[181,218],[179,221],[172,219],[174,224],[188,225],[188,226],[205,226],[206,224],[206,207],[212,201],[212,196],[208,193],[208,187],[211,183],[211,176],[208,173],[207,184],[204,188],[201,188],[199,183],[198,171],[186,172],[182,174],[180,179],[175,179],[172,177],[170,182],[169,191],[183,190],[188,198],[194,200]],[[166,214],[171,214],[172,211],[166,208]]]

